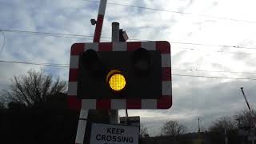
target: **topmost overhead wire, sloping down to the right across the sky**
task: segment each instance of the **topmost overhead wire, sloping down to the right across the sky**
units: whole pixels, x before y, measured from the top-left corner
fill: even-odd
[[[87,2],[99,2],[99,1],[94,1],[94,0],[84,0],[84,1],[87,1]],[[175,13],[175,14],[196,15],[198,17],[208,17],[208,18],[215,18],[215,19],[223,19],[223,20],[230,20],[230,21],[234,21],[234,22],[256,23],[255,21],[248,21],[248,20],[243,20],[243,19],[225,18],[225,17],[218,17],[218,16],[208,15],[208,14],[193,14],[193,13],[186,13],[186,12],[181,12],[181,11],[174,11],[174,10],[163,10],[163,9],[158,9],[158,8],[150,8],[150,7],[146,7],[146,6],[126,5],[126,4],[114,3],[114,2],[107,2],[107,4],[115,5],[115,6],[127,6],[127,7],[133,7],[133,8],[138,8],[138,9],[164,11],[164,12]]]

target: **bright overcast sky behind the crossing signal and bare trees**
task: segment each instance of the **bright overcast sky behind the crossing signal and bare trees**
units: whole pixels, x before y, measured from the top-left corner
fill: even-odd
[[[102,42],[110,42],[111,22],[120,22],[120,27],[126,30],[131,39],[170,42],[172,74],[225,77],[173,75],[173,106],[170,110],[129,110],[130,116],[141,116],[151,135],[159,134],[162,123],[168,120],[184,122],[189,131],[197,131],[198,118],[202,119],[202,126],[207,129],[215,118],[245,110],[241,86],[250,105],[255,107],[254,0],[108,2],[154,10],[108,4]],[[90,19],[97,17],[98,4],[82,0],[1,0],[0,29],[92,36],[94,26],[90,25]],[[92,42],[92,38],[2,31],[0,60],[69,65],[70,46],[74,42]],[[46,70],[66,81],[68,79],[68,68],[0,62],[0,89],[6,88],[14,75],[25,74],[30,69]],[[120,111],[120,114],[124,115],[124,112]]]

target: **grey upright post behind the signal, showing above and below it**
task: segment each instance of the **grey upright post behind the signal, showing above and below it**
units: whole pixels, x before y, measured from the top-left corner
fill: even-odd
[[[119,42],[119,23],[112,22],[112,42]],[[118,123],[118,110],[110,110],[110,123]]]

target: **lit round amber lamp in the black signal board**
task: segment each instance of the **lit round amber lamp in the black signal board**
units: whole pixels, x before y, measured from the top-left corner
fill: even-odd
[[[113,74],[110,76],[109,84],[113,90],[122,90],[126,86],[126,78],[122,74]]]

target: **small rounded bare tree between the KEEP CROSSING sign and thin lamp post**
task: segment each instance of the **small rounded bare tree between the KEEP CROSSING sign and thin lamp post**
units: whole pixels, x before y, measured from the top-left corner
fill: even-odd
[[[178,121],[169,121],[162,126],[162,134],[170,136],[178,136],[186,133],[186,126]]]

